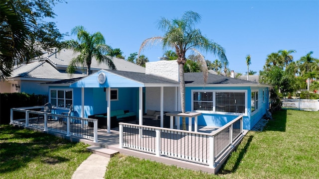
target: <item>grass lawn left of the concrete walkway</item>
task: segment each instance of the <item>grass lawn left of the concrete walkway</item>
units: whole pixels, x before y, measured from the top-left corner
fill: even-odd
[[[88,145],[0,125],[0,179],[71,179]]]

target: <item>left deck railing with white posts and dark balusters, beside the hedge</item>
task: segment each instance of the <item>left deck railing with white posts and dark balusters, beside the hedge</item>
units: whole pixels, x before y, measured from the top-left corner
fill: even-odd
[[[10,124],[54,131],[98,142],[98,120],[41,112],[43,106],[11,108]]]

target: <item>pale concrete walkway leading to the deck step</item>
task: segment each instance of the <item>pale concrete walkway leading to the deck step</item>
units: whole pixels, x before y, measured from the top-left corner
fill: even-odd
[[[106,167],[109,164],[109,161],[110,158],[91,154],[76,169],[72,175],[72,179],[104,179]]]

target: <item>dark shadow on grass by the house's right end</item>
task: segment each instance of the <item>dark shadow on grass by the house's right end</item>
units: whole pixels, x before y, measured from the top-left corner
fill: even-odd
[[[280,111],[276,111],[272,114],[273,119],[269,120],[263,131],[286,131],[286,123],[287,123],[287,115],[291,115],[287,113],[286,109],[282,109]]]

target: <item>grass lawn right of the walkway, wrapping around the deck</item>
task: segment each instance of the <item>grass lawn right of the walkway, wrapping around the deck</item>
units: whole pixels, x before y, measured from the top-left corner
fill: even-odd
[[[319,179],[319,111],[282,110],[249,131],[218,175],[135,157],[111,158],[106,179]]]

